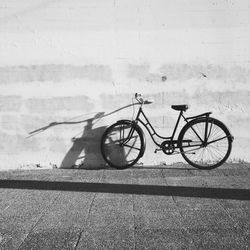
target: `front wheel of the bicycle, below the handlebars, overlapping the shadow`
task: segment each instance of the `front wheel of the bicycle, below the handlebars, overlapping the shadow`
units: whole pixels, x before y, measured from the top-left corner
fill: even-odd
[[[133,166],[144,152],[143,134],[131,121],[117,122],[104,132],[101,153],[104,160],[117,169]]]

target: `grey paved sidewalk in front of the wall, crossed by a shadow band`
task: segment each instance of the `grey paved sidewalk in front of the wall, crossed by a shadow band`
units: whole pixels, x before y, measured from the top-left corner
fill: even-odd
[[[250,249],[249,164],[0,176],[0,249]]]

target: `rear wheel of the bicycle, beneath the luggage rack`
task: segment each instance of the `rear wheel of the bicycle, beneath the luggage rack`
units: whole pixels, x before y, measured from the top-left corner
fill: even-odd
[[[199,169],[219,167],[227,160],[232,149],[230,132],[214,118],[187,123],[180,132],[179,142],[183,158]]]

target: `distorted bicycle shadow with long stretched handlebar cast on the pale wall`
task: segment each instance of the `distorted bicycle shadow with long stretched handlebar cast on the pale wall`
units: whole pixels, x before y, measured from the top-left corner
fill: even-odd
[[[93,128],[93,125],[95,124],[95,121],[98,121],[106,116],[112,115],[116,112],[119,112],[133,105],[137,104],[129,104],[107,114],[105,114],[104,112],[98,112],[94,117],[89,118],[87,120],[75,121],[75,122],[72,121],[52,122],[48,126],[30,132],[27,138],[35,136],[38,133],[41,133],[53,126],[62,124],[73,125],[79,123],[86,123],[81,137],[72,138],[73,145],[64,156],[60,164],[60,168],[103,169],[106,167],[106,162],[104,161],[101,155],[100,142],[101,142],[101,137],[107,127],[102,126],[98,128]],[[113,142],[110,143],[112,144]],[[112,150],[110,154],[112,156],[113,154]]]

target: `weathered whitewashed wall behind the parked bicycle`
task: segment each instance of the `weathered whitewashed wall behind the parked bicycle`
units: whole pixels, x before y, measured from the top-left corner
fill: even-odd
[[[230,160],[249,161],[249,9],[236,0],[2,0],[0,169],[103,166],[100,136],[133,108],[100,112],[135,92],[154,99],[145,110],[161,133],[173,128],[171,104],[190,104],[190,116],[213,111],[235,136]],[[182,160],[147,142],[144,164]]]

